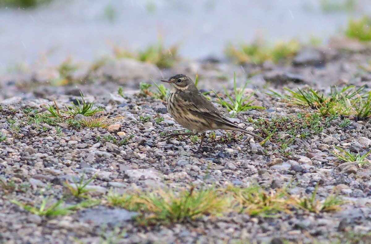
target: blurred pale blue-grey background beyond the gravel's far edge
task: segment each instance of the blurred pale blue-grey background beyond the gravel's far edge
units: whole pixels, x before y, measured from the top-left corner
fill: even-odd
[[[228,44],[257,38],[326,43],[370,13],[370,0],[0,0],[0,70],[160,42],[189,59],[223,58]]]

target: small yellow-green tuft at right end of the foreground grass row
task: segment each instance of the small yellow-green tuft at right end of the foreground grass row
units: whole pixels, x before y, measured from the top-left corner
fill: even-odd
[[[303,197],[297,199],[297,204],[299,207],[308,210],[309,212],[329,212],[329,211],[335,211],[339,209],[339,206],[344,203],[344,201],[338,197],[337,194],[334,194],[335,188],[332,190],[331,194],[326,197],[324,200],[319,201],[316,200],[318,185],[314,188],[314,191],[312,193],[312,196],[310,198]]]

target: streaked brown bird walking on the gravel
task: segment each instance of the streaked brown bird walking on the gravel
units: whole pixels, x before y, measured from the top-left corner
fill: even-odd
[[[165,136],[167,139],[175,136],[197,135],[201,133],[202,137],[198,146],[198,153],[201,152],[206,131],[211,130],[225,129],[240,131],[264,141],[262,137],[246,131],[224,117],[213,103],[201,94],[193,80],[188,76],[178,74],[161,81],[169,83],[171,86],[166,99],[167,111],[177,123],[192,131],[191,133],[172,133]]]

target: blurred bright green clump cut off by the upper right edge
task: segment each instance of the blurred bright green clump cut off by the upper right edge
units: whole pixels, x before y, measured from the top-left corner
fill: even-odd
[[[349,19],[345,30],[345,36],[360,40],[362,42],[371,41],[371,18],[363,16],[361,19]]]

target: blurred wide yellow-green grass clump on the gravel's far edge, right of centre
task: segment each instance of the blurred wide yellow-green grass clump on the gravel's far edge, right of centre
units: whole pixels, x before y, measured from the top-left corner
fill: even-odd
[[[294,57],[300,46],[297,40],[289,40],[286,43],[279,42],[274,47],[264,40],[256,40],[252,44],[239,44],[238,47],[229,44],[224,53],[239,64],[255,63],[260,65],[266,60],[278,63],[282,59]]]

